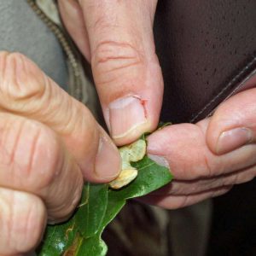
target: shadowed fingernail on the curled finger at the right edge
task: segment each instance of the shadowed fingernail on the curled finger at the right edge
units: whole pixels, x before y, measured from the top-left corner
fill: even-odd
[[[216,152],[217,154],[228,153],[250,143],[252,138],[252,131],[247,128],[235,128],[230,131],[224,131],[218,137]]]

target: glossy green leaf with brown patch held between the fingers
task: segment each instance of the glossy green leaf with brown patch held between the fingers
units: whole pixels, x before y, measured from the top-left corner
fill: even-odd
[[[147,195],[172,180],[166,167],[147,156],[131,166],[137,168],[138,176],[124,188],[114,190],[108,184],[86,183],[73,217],[64,224],[48,226],[39,255],[106,255],[108,248],[102,241],[102,232],[125,206],[125,201]]]

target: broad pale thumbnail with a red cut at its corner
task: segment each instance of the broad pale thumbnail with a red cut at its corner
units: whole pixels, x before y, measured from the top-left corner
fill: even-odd
[[[146,108],[136,96],[118,99],[109,105],[109,125],[113,138],[125,137],[147,123]]]

